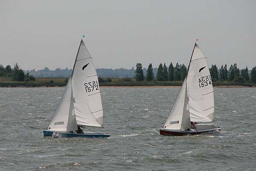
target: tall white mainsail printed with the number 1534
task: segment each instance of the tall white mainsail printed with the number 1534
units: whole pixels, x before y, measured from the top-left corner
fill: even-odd
[[[187,75],[189,112],[192,122],[212,122],[214,96],[206,57],[195,44]]]

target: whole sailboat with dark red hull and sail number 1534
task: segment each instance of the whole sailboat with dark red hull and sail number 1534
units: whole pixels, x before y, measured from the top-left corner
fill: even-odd
[[[186,78],[160,134],[184,136],[221,130],[213,123],[214,94],[206,57],[195,42]]]

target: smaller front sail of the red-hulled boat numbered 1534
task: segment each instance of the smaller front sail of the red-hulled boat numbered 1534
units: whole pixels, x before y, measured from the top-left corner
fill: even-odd
[[[163,128],[166,129],[187,129],[191,127],[189,117],[189,102],[187,96],[186,78],[180,88],[180,92],[166,119]]]

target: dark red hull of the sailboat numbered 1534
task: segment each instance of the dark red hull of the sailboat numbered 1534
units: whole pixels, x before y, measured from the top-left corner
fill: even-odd
[[[168,130],[160,128],[160,135],[164,136],[186,136],[186,135],[197,135],[200,133],[219,131],[221,128],[207,129],[207,130]]]

